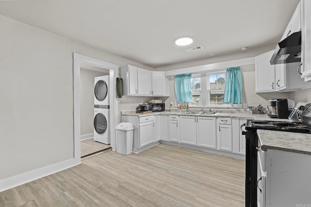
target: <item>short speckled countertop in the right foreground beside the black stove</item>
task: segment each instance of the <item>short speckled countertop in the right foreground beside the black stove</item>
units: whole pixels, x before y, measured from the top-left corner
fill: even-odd
[[[258,129],[257,134],[263,151],[276,149],[311,155],[311,134],[263,129]]]

